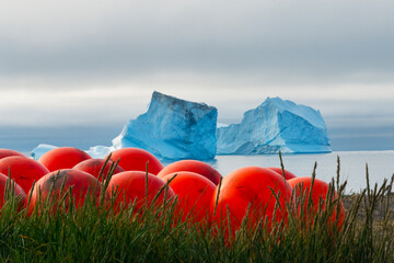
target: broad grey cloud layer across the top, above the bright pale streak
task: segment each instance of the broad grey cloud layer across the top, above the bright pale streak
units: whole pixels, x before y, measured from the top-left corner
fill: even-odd
[[[86,1],[77,13],[72,4],[63,12],[43,4],[15,28],[5,16],[0,77],[197,72],[268,83],[394,82],[392,1],[170,3]]]

